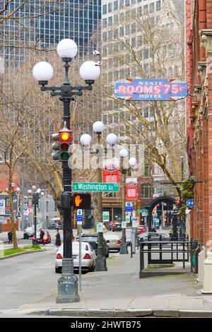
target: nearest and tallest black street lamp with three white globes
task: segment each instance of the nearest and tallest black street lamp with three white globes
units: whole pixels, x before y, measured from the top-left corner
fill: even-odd
[[[58,96],[64,105],[64,122],[70,130],[70,104],[73,96],[83,95],[82,90],[92,90],[92,85],[100,76],[100,67],[95,61],[86,61],[81,65],[80,75],[86,82],[86,86],[72,86],[69,82],[69,62],[77,54],[77,45],[73,40],[64,39],[57,45],[57,53],[64,61],[65,79],[59,86],[46,86],[53,76],[53,68],[45,61],[34,66],[33,76],[41,85],[42,91],[50,91],[51,96]],[[71,167],[68,160],[62,161],[63,193],[61,194],[61,206],[64,210],[64,254],[62,259],[62,275],[58,280],[57,303],[79,302],[78,278],[73,273],[72,257],[72,220],[71,220]]]

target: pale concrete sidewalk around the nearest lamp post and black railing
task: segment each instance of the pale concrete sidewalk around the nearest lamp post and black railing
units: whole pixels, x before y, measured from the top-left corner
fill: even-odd
[[[201,294],[196,275],[186,272],[139,279],[139,253],[133,258],[115,254],[104,272],[82,275],[81,301],[56,304],[57,290],[49,297],[19,309],[22,314],[51,316],[211,316],[212,295]],[[154,269],[155,270],[155,269]],[[157,271],[169,271],[160,268]],[[171,271],[182,272],[182,263]]]

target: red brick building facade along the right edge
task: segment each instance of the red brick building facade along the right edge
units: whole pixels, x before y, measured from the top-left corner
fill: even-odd
[[[187,151],[196,182],[191,237],[212,239],[212,1],[187,0]]]

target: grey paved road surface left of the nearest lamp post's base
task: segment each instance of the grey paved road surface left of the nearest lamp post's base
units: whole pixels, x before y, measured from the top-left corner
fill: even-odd
[[[56,249],[0,261],[0,309],[37,302],[57,290]]]

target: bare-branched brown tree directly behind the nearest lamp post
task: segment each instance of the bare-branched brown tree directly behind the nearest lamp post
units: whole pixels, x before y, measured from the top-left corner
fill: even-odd
[[[63,105],[58,97],[51,97],[48,92],[41,92],[40,86],[34,80],[32,70],[33,66],[43,59],[42,54],[39,55],[30,51],[30,60],[20,66],[14,73],[10,90],[2,93],[6,95],[8,108],[13,105],[18,105],[21,109],[21,121],[17,126],[20,126],[22,133],[22,140],[16,141],[25,146],[22,160],[18,164],[18,171],[22,174],[22,178],[26,182],[30,182],[33,176],[39,177],[40,182],[43,182],[49,189],[57,208],[62,216],[63,210],[60,206],[60,194],[62,191],[61,178],[61,163],[52,160],[52,139],[51,134],[59,131],[62,128]],[[45,55],[48,61],[49,55]],[[49,58],[54,67],[54,85],[61,84],[61,77],[64,78],[64,73],[61,70],[62,62],[56,54],[51,54]],[[81,60],[74,60],[71,63],[71,83],[78,81],[78,69]],[[50,82],[49,84],[51,84]],[[85,84],[84,82],[80,82]],[[73,131],[73,143],[78,143],[80,134],[84,131],[89,132],[93,119],[96,117],[95,105],[98,103],[98,83],[93,86],[93,92],[84,92],[83,97],[76,97],[74,102],[71,102],[71,130]],[[89,112],[88,112],[89,110]],[[12,109],[11,109],[12,113]],[[11,114],[10,113],[10,114]],[[8,118],[8,124],[16,123],[16,118]],[[24,143],[23,143],[24,142]],[[19,158],[20,159],[20,158]],[[30,172],[33,174],[30,174]],[[73,170],[73,178],[90,179],[95,172],[90,170]]]

